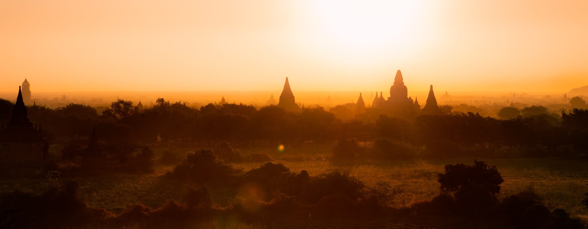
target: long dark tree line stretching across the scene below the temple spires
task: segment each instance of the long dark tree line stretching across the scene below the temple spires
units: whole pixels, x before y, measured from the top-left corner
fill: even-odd
[[[9,121],[13,104],[0,100],[0,122]],[[366,108],[365,112],[374,111]],[[139,110],[132,101],[118,100],[99,114],[95,108],[68,104],[51,109],[27,108],[34,124],[42,124],[46,138],[89,136],[92,127],[105,142],[221,142],[335,143],[356,138],[370,142],[389,138],[413,146],[447,141],[462,147],[537,151],[588,152],[588,110],[549,114],[542,106],[523,108],[510,119],[483,117],[472,112],[419,115],[414,119],[391,115],[336,118],[323,107],[288,112],[273,105],[257,110],[244,104],[208,104],[199,109],[158,98]],[[356,135],[358,134],[359,135]]]

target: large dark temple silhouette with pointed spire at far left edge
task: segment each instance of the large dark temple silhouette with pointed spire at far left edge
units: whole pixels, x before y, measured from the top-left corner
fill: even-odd
[[[33,127],[29,121],[19,87],[12,117],[6,128],[2,125],[0,130],[0,169],[4,173],[33,172],[42,168],[48,152],[41,125]]]

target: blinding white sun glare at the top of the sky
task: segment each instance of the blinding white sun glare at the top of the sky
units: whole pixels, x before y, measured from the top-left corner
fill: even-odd
[[[408,42],[406,32],[419,1],[314,1],[319,26],[329,42],[352,49],[372,49]],[[422,13],[422,12],[419,12]]]

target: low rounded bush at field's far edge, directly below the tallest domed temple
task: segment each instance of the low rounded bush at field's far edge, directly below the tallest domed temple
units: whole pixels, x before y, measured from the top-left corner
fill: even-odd
[[[415,151],[407,143],[397,142],[387,138],[376,139],[373,143],[374,159],[413,159]]]

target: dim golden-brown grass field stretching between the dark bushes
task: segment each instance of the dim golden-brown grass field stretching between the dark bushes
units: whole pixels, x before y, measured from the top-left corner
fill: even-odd
[[[51,153],[59,152],[62,146],[51,146]],[[166,149],[152,146],[156,158]],[[246,151],[249,148],[242,149]],[[194,151],[193,147],[178,147],[176,151]],[[275,162],[283,163],[293,172],[308,171],[315,176],[329,169],[345,169],[350,175],[366,184],[378,180],[390,182],[393,186],[403,184],[406,190],[392,207],[406,207],[417,201],[430,200],[439,193],[437,173],[449,163],[473,164],[473,158],[448,160],[410,160],[373,162],[331,162],[329,147],[289,148],[279,152],[277,148],[254,148],[253,152],[266,151]],[[533,189],[544,198],[552,209],[561,208],[572,216],[588,220],[588,209],[580,204],[583,193],[588,192],[588,161],[584,158],[543,158],[543,159],[483,159],[489,165],[496,165],[505,182],[499,198]],[[262,163],[235,164],[236,168],[249,170]],[[168,199],[181,200],[189,187],[194,184],[169,180],[161,176],[173,166],[157,165],[156,172],[148,175],[107,172],[101,176],[79,175],[60,177],[60,180],[75,180],[81,185],[82,198],[91,206],[102,207],[120,213],[131,204],[143,203],[149,207],[159,207]],[[44,179],[0,180],[0,192],[24,190],[41,192],[46,189]],[[229,190],[212,189],[216,203],[226,206],[230,201]]]

